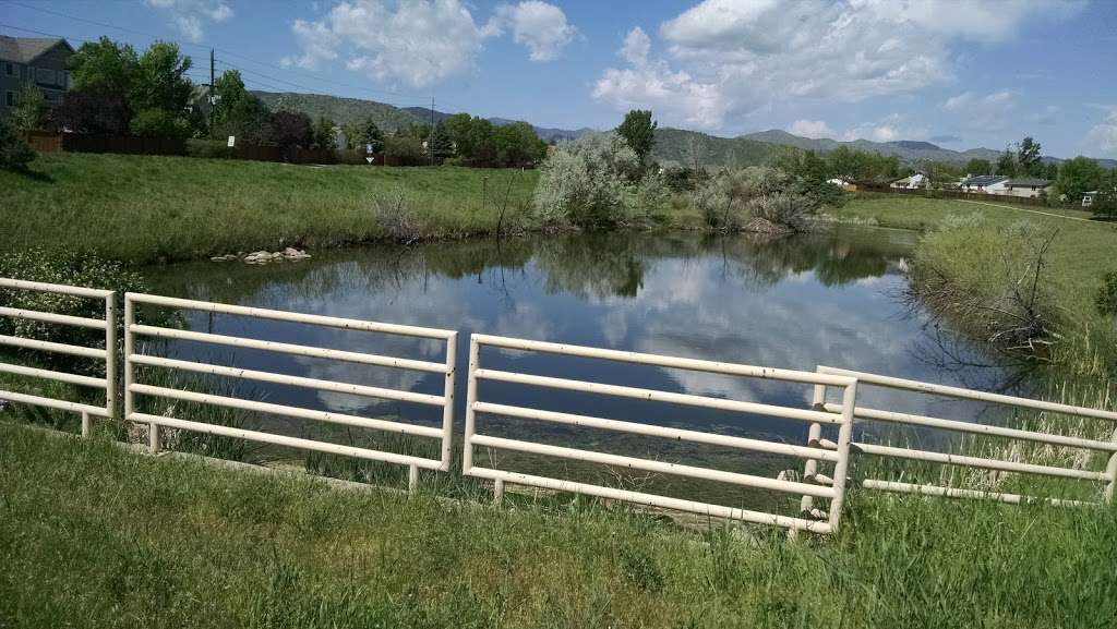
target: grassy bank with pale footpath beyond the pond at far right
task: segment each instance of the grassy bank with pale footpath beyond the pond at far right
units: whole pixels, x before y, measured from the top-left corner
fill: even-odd
[[[930,229],[951,215],[977,213],[991,223],[1009,225],[1029,220],[1044,230],[1059,230],[1051,244],[1051,270],[1070,313],[1085,320],[1094,318],[1094,298],[1106,271],[1117,270],[1117,223],[1068,220],[1024,209],[1010,209],[984,203],[919,197],[868,196],[852,199],[846,207],[832,211],[841,219],[876,220],[881,227]],[[1089,218],[1087,212],[1069,210],[1038,211]],[[975,246],[978,246],[975,242]]]

